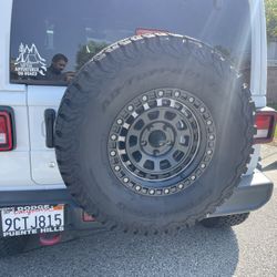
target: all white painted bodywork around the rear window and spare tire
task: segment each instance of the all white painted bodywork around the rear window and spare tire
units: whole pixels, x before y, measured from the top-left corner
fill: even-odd
[[[252,22],[252,93],[257,107],[266,105],[266,23],[263,0],[249,0]],[[0,153],[0,189],[61,187],[62,178],[54,151],[45,146],[44,111],[58,110],[65,88],[9,84],[9,41],[12,0],[0,9],[0,105],[12,106],[16,113],[17,148]],[[248,174],[257,165],[259,146]]]

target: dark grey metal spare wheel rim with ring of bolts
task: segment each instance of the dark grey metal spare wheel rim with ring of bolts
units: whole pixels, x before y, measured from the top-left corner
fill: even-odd
[[[114,120],[109,161],[121,184],[151,196],[177,193],[207,168],[215,147],[207,106],[188,92],[160,89],[127,103]]]

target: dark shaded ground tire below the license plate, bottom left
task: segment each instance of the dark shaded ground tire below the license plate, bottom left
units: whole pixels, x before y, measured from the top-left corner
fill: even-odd
[[[0,238],[0,257],[12,256],[23,252],[29,236]]]

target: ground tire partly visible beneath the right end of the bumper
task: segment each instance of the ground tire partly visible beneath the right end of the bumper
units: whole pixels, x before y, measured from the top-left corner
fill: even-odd
[[[244,223],[248,216],[249,213],[218,216],[204,219],[201,224],[207,228],[227,228]]]

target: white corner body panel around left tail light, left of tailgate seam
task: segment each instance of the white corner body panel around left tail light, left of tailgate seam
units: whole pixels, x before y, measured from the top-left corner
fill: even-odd
[[[17,148],[0,152],[0,186],[32,185],[30,141],[25,85],[9,84],[9,41],[12,1],[1,2],[0,9],[0,105],[14,110]]]

